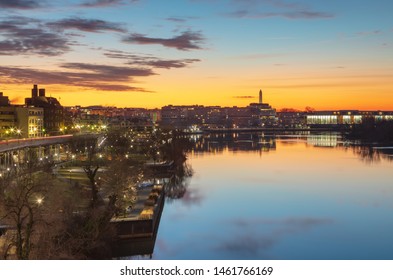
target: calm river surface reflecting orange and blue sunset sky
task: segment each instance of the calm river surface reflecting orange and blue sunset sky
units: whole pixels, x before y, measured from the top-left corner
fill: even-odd
[[[199,141],[154,259],[393,259],[391,156],[335,136],[248,137]]]

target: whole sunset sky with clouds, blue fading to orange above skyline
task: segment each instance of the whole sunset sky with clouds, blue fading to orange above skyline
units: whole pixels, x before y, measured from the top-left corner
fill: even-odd
[[[391,0],[0,0],[0,92],[64,106],[393,110]]]

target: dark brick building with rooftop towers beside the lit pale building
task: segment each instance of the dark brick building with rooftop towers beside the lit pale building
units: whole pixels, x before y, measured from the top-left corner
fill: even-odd
[[[54,97],[45,96],[45,89],[38,89],[34,85],[31,97],[25,98],[26,106],[43,108],[44,129],[46,134],[58,134],[64,127],[64,110],[60,102]]]

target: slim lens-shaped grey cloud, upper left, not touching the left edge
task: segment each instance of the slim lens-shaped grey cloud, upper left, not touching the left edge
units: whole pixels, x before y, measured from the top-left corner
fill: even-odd
[[[56,29],[76,29],[85,32],[115,31],[126,32],[118,23],[103,21],[99,19],[68,18],[47,24]]]

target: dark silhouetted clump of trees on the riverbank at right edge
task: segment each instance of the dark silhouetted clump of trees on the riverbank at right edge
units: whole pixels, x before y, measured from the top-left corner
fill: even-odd
[[[361,124],[353,126],[348,138],[364,142],[393,142],[393,121],[365,119]]]

